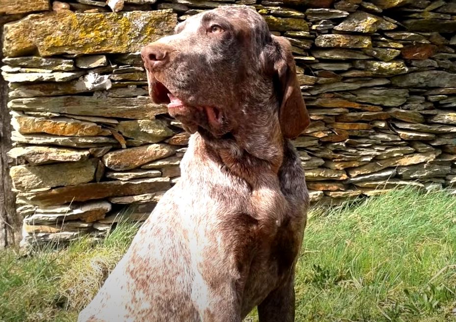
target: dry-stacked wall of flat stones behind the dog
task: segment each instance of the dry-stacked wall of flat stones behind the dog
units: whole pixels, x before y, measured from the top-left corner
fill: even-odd
[[[0,12],[22,19],[4,26],[2,76],[9,155],[26,163],[10,171],[26,242],[100,236],[125,205],[147,217],[179,179],[188,134],[149,101],[137,52],[230,3],[293,45],[312,119],[294,144],[312,201],[456,182],[454,1],[9,2]]]

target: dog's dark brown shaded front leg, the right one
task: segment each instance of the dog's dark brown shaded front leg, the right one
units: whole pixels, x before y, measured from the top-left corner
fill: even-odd
[[[269,293],[258,305],[260,322],[294,322],[295,321],[295,274],[286,282]]]

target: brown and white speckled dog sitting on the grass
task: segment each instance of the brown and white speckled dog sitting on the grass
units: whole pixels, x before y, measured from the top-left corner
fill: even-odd
[[[309,117],[290,43],[246,6],[180,23],[142,51],[156,103],[192,133],[181,179],[80,322],[261,322],[295,316],[308,194],[295,148]]]

